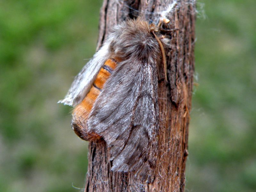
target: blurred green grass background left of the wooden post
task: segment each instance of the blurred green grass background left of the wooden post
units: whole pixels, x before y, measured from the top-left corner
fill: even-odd
[[[83,188],[87,143],[57,101],[95,52],[101,3],[0,3],[0,191]]]

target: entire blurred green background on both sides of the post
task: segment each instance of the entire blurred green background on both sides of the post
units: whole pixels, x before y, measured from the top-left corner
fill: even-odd
[[[57,104],[95,52],[101,0],[0,2],[0,191],[83,188]],[[256,191],[256,1],[200,0],[186,191]]]

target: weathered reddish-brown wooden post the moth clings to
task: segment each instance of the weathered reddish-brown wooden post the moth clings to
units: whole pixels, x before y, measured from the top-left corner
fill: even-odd
[[[159,66],[159,153],[153,183],[141,183],[132,173],[111,172],[109,149],[103,140],[90,142],[88,172],[84,191],[184,191],[185,163],[188,156],[188,125],[191,108],[196,5],[194,0],[175,1],[166,17],[171,20],[163,33],[170,38],[165,47],[168,77],[164,80],[164,66]],[[97,49],[116,23],[127,18],[142,16],[158,22],[161,12],[173,1],[164,0],[104,0],[100,12]]]

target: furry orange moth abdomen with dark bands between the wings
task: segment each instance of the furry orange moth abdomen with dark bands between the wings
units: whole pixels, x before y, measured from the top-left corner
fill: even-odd
[[[84,100],[75,107],[72,113],[72,129],[83,140],[92,141],[100,139],[96,133],[89,133],[87,129],[87,118],[92,110],[95,100],[99,96],[103,86],[113,70],[116,68],[116,60],[108,59],[94,80],[90,91],[85,96]]]

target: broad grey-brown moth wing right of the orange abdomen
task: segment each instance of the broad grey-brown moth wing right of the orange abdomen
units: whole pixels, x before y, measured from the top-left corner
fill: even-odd
[[[158,148],[156,63],[117,64],[88,117],[88,130],[106,140],[112,171],[135,171],[151,182]]]

